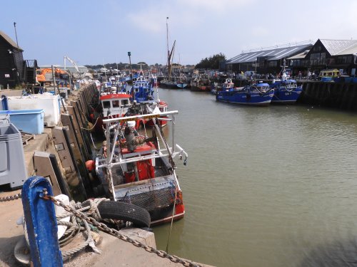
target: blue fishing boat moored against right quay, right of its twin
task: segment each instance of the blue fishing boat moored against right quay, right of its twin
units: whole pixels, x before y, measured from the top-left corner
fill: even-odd
[[[274,96],[271,103],[293,104],[296,103],[299,95],[303,91],[302,85],[297,85],[296,80],[293,80],[286,75],[285,59],[281,66],[281,80],[273,80],[270,85],[274,89]]]

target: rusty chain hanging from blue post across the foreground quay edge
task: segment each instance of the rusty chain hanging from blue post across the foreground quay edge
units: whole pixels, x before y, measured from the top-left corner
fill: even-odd
[[[201,264],[193,263],[193,262],[185,260],[183,258],[179,258],[178,256],[170,255],[169,253],[166,253],[165,251],[158,250],[158,249],[153,248],[151,246],[147,246],[145,244],[142,244],[139,241],[131,239],[130,237],[119,233],[119,231],[117,231],[116,229],[109,228],[108,226],[106,226],[106,224],[103,224],[103,223],[101,223],[99,221],[96,221],[96,219],[94,219],[92,217],[89,217],[89,216],[86,216],[86,214],[84,214],[83,212],[77,211],[76,209],[72,208],[71,206],[67,206],[62,201],[60,201],[58,199],[55,199],[53,196],[50,196],[49,194],[47,194],[46,189],[44,189],[44,192],[41,194],[41,198],[42,199],[46,199],[46,200],[51,200],[57,206],[61,206],[67,212],[73,213],[75,216],[88,221],[90,224],[98,227],[98,229],[101,229],[102,231],[104,231],[104,232],[106,232],[108,234],[111,234],[112,236],[116,236],[117,238],[119,238],[119,239],[121,239],[123,241],[129,242],[129,243],[133,244],[134,246],[137,246],[139,248],[144,248],[146,251],[148,251],[150,253],[156,253],[156,255],[160,256],[161,258],[169,258],[170,261],[173,261],[174,263],[181,263],[183,266],[202,267]]]

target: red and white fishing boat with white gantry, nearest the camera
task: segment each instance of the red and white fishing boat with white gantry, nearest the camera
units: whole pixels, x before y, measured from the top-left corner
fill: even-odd
[[[169,111],[161,115],[169,116],[174,125],[177,113]],[[161,115],[104,120],[111,131],[106,132],[102,155],[96,158],[96,172],[108,197],[149,211],[151,226],[181,219],[185,214],[174,158],[184,156],[186,165],[188,155],[175,144],[174,127],[172,147],[156,123],[151,137],[139,135],[134,127],[137,120],[161,120]]]

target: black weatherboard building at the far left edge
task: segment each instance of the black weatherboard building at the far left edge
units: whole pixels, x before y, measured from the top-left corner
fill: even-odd
[[[3,31],[0,31],[0,85],[14,88],[24,78],[24,57],[22,50]]]

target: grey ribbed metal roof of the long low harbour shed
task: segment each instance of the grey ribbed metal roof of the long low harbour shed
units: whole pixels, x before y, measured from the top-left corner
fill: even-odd
[[[301,46],[290,46],[290,47],[241,53],[240,55],[229,59],[227,63],[235,64],[235,63],[255,62],[257,60],[257,57],[262,57],[262,56],[266,56],[268,58],[268,61],[276,61],[281,58],[287,58],[289,56],[292,56],[297,51],[301,51],[305,48],[307,49],[310,46],[311,44],[306,44]]]

